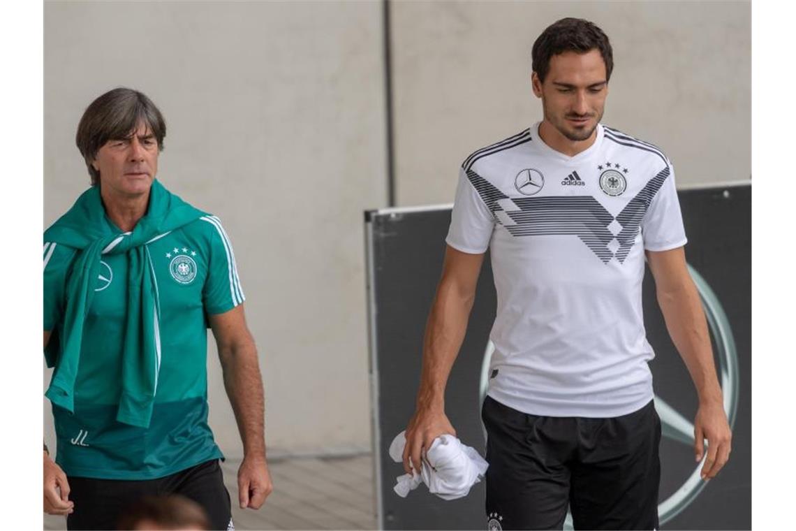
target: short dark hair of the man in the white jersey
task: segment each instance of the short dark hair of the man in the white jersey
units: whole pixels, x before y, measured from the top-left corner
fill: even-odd
[[[544,83],[550,70],[551,57],[564,52],[587,53],[593,49],[599,50],[603,56],[605,80],[610,80],[614,69],[614,53],[608,36],[602,29],[583,18],[562,18],[549,25],[533,43],[533,72],[537,72],[540,82]]]

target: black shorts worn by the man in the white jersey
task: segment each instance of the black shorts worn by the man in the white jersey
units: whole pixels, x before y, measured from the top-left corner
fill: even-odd
[[[607,419],[527,415],[490,396],[488,529],[657,529],[661,420],[650,400]]]

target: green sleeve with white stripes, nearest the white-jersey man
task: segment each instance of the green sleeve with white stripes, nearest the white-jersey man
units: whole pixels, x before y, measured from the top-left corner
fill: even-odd
[[[208,314],[223,314],[245,300],[243,288],[240,287],[235,252],[232,251],[229,236],[217,217],[205,216],[201,219],[212,225],[208,273],[205,286],[202,288],[202,303]]]

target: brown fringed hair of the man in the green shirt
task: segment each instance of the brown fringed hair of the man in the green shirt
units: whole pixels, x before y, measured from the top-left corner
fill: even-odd
[[[75,142],[86,161],[92,186],[100,182],[100,172],[92,166],[97,152],[108,140],[128,139],[139,123],[145,123],[158,141],[158,150],[163,150],[166,137],[166,121],[146,94],[132,88],[114,88],[92,101],[80,124],[77,126]]]

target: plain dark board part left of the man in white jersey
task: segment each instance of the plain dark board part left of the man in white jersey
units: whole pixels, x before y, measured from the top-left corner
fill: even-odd
[[[374,448],[374,458],[381,469],[382,482],[377,485],[377,492],[383,500],[378,521],[383,529],[480,529],[482,503],[474,505],[473,501],[483,500],[483,483],[475,486],[467,498],[454,502],[443,502],[419,491],[400,498],[392,486],[395,478],[404,474],[403,467],[387,455],[393,437],[406,427],[415,409],[423,330],[441,271],[450,207],[388,209],[368,213],[366,219],[373,257],[369,285],[376,306],[371,312],[375,325],[372,348],[377,350],[373,374],[379,393],[373,422],[380,432],[380,446]],[[448,416],[459,437],[483,453],[478,378],[483,338],[494,321],[495,306],[489,260],[485,260],[478,281],[478,302],[451,371],[446,399]]]

